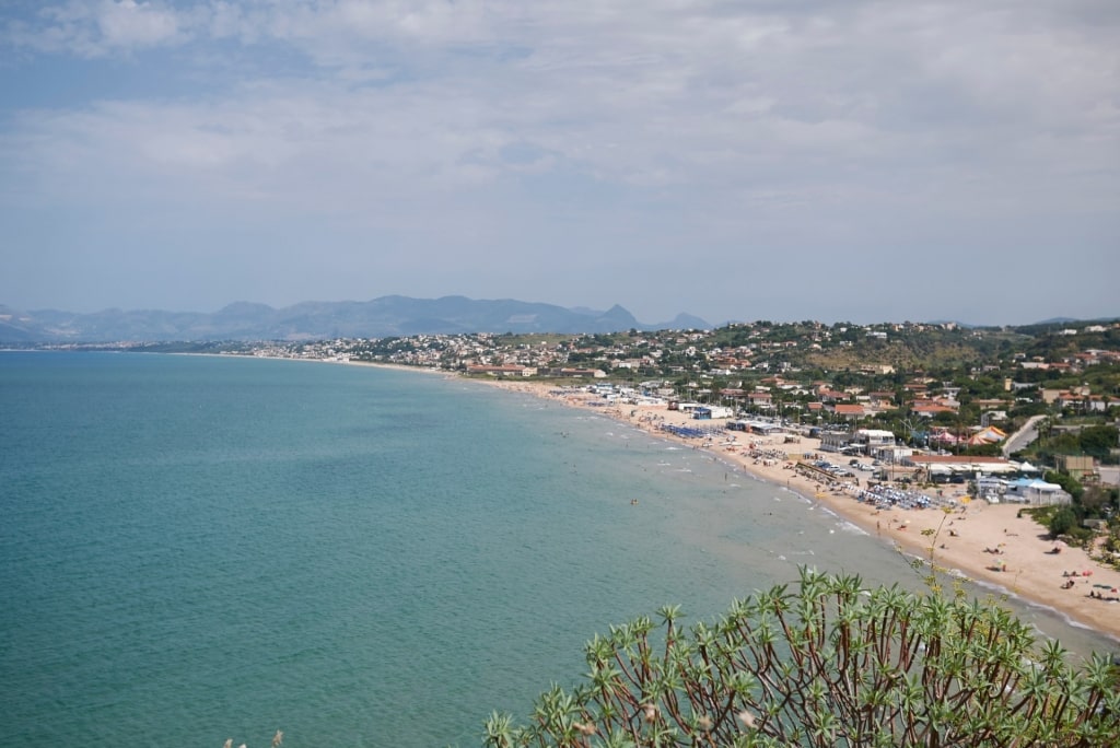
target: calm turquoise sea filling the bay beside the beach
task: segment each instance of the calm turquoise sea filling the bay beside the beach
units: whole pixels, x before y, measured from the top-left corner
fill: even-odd
[[[801,567],[922,587],[702,449],[420,371],[2,352],[0,438],[4,745],[479,746],[663,605]]]

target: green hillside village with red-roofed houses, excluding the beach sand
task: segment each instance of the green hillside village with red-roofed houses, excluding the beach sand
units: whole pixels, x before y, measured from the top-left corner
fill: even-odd
[[[1043,484],[1037,478],[1046,471],[1082,486],[1117,483],[1110,469],[1120,447],[1116,321],[1017,328],[758,321],[614,335],[245,344],[227,352],[585,387],[603,404],[815,437],[822,451],[872,458],[879,479],[917,474],[960,484],[1017,475],[1034,480],[1012,492],[1047,503],[1068,502],[1071,484]],[[989,496],[997,487],[1005,488],[973,485]],[[1100,507],[1109,508],[1114,503]]]

